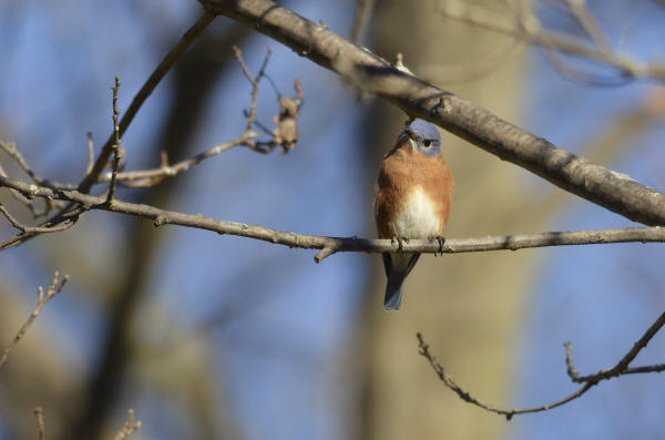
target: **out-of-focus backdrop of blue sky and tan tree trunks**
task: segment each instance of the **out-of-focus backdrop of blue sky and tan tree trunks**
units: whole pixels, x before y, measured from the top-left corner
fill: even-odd
[[[557,58],[563,69],[542,50],[443,17],[438,3],[446,2],[369,4],[356,40],[388,60],[401,52],[421,78],[665,188],[658,81],[630,81],[572,57]],[[469,3],[507,18],[526,4]],[[546,28],[584,37],[561,3],[530,7]],[[282,4],[342,35],[358,9],[355,0]],[[589,7],[613,48],[665,63],[662,2]],[[86,132],[98,152],[111,132],[113,78],[124,110],[201,14],[195,1],[1,2],[0,139],[16,142],[38,174],[79,182]],[[250,85],[232,44],[254,73],[273,47],[267,73],[280,93],[293,94],[294,78],[303,82],[298,146],[286,155],[235,149],[116,197],[284,231],[376,236],[375,177],[406,116],[222,17],[125,134],[126,170],[157,166],[162,151],[185,158],[243,132]],[[277,109],[262,82],[258,120],[273,126]],[[449,237],[633,225],[449,134],[443,154],[456,180]],[[25,180],[6,155],[0,161]],[[6,192],[0,199],[21,209]],[[1,223],[0,233],[13,232]],[[613,366],[665,309],[662,246],[428,255],[393,314],[382,309],[378,255],[338,254],[319,265],[314,255],[104,212],[0,253],[0,347],[33,309],[37,286],[54,269],[71,276],[0,369],[0,438],[33,438],[35,406],[49,439],[110,439],[129,408],[143,421],[133,439],[665,438],[658,375],[613,379],[507,422],[446,389],[416,339],[421,331],[458,383],[488,403],[557,400],[576,389],[563,341],[572,341],[580,372],[594,372]],[[663,362],[664,339],[657,335],[634,365]]]

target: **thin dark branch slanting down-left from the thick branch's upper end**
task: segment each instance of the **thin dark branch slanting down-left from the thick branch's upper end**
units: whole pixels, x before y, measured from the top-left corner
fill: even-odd
[[[181,55],[187,50],[187,48],[203,33],[203,31],[208,27],[209,23],[215,19],[215,14],[211,12],[205,12],[197,21],[190,28],[181,38],[181,40],[171,49],[171,51],[164,57],[164,59],[156,66],[154,72],[150,75],[147,81],[143,84],[139,93],[132,100],[130,108],[126,110],[122,120],[119,124],[120,136],[124,136],[125,131],[139,113],[139,110],[151,95],[153,90],[157,86],[162,78],[171,70],[171,68],[175,64],[175,62],[181,58]],[[79,191],[82,193],[90,192],[92,185],[96,182],[100,174],[106,166],[106,163],[111,158],[111,154],[113,154],[113,143],[115,141],[115,133],[112,133],[102,151],[94,162],[92,170],[90,173],[85,175],[85,178],[81,181],[79,184]]]

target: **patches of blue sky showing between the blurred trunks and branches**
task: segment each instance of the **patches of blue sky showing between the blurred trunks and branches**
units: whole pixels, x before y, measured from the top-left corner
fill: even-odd
[[[625,50],[645,58],[663,54],[661,27],[648,25],[663,18],[662,8],[655,2],[638,2],[624,18],[642,25],[632,25],[622,33],[622,23],[614,19],[625,10],[616,6],[620,2],[610,3],[598,9],[600,19],[607,29],[624,35],[621,44]],[[160,12],[153,16],[157,4]],[[303,16],[315,21],[325,18],[331,30],[348,33],[352,1],[291,4]],[[100,8],[104,8],[104,17],[99,17]],[[110,131],[113,78],[121,76],[120,106],[126,109],[171,44],[173,33],[164,32],[162,27],[177,28],[180,34],[197,14],[196,8],[176,1],[141,6],[102,6],[93,1],[47,9],[29,2],[2,6],[0,12],[0,59],[9,60],[3,79],[11,84],[0,86],[1,136],[17,142],[39,173],[62,181],[78,181],[85,167],[85,132],[93,132],[100,145]],[[559,17],[551,19],[566,25]],[[146,29],[146,20],[154,28]],[[200,165],[178,187],[183,196],[177,197],[177,205],[168,208],[301,233],[367,234],[371,212],[358,188],[374,176],[364,175],[352,160],[364,106],[332,73],[264,37],[255,37],[242,48],[253,71],[268,45],[275,50],[268,72],[283,93],[291,93],[294,72],[304,83],[307,111],[300,120],[298,147],[285,156],[257,155],[242,149],[224,153]],[[584,142],[590,134],[643,105],[654,86],[580,84],[563,79],[539,54],[531,58],[530,74],[523,98],[524,114],[529,116],[523,125],[581,155],[585,154]],[[125,135],[131,168],[156,162],[142,154],[141,146],[154,142],[153,127],[164,117],[163,110],[172,99],[168,83],[167,76]],[[269,84],[264,83],[259,117],[267,122],[275,112],[272,93]],[[195,151],[235,137],[244,127],[241,109],[248,103],[249,84],[239,69],[232,69],[215,94],[202,124],[206,129],[194,141]],[[664,135],[664,124],[654,123],[635,137],[625,154],[605,165],[663,188],[665,182],[658,171],[665,158]],[[524,182],[534,191],[548,185],[526,172]],[[192,193],[196,196],[185,196]],[[580,199],[570,205],[552,218],[550,229],[631,224]],[[104,231],[98,250],[106,245],[122,250],[125,245],[119,242],[125,224],[102,213],[90,217],[85,219],[91,222],[90,227],[96,225]],[[314,265],[311,252],[202,231],[162,231],[166,236],[164,249],[176,252],[162,253],[153,268],[147,300],[158,305],[153,307],[155,313],[195,330],[229,304],[250,301],[250,307],[206,335],[216,348],[214,365],[226,374],[221,388],[235,400],[249,438],[339,438],[344,432],[340,416],[332,409],[336,402],[331,405],[328,388],[339,370],[331,366],[331,359],[344,350],[349,338],[348,328],[367,287],[372,257],[336,255]],[[66,234],[65,239],[75,239],[75,232]],[[16,287],[17,296],[24,297],[27,310],[33,297],[20,293],[33,291],[35,280],[45,283],[53,269],[52,259],[40,252],[38,244],[29,243],[0,255],[0,277]],[[104,260],[94,248],[82,252],[89,262]],[[665,274],[658,263],[664,256],[662,246],[628,244],[539,252],[546,263],[530,298],[526,336],[516,341],[519,388],[511,400],[514,406],[556,400],[574,389],[565,376],[564,340],[573,342],[577,369],[592,372],[613,365],[665,309],[661,289]],[[234,258],[225,258],[228,255]],[[74,354],[76,364],[72,368],[86,370],[94,362],[95,341],[102,330],[95,319],[100,310],[94,300],[82,299],[94,293],[78,284],[78,263],[62,263],[59,268],[73,276],[69,289],[74,293],[50,304],[40,325],[55,329],[58,344]],[[249,274],[250,280],[238,284],[238,274]],[[143,330],[146,337],[158,339],[170,325],[173,323]],[[663,338],[656,337],[636,364],[663,362],[664,348]],[[515,418],[511,438],[620,439],[628,433],[656,438],[665,423],[664,392],[665,383],[658,376],[612,380],[565,408]],[[149,436],[184,436],[187,421],[178,412],[177,402],[160,401],[162,396],[147,387],[127,392],[130,397],[135,400],[127,405],[145,410],[143,429]]]

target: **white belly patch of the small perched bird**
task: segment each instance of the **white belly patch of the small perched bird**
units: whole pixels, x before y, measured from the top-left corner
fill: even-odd
[[[433,238],[439,234],[437,206],[421,187],[417,187],[393,222],[395,232],[403,238]]]

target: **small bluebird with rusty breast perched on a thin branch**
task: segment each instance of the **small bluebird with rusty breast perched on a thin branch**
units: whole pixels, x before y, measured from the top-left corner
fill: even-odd
[[[375,196],[375,218],[380,238],[437,238],[442,234],[452,204],[452,175],[441,156],[436,126],[416,120],[399,135],[383,157]],[[397,310],[401,288],[419,253],[383,253],[388,276],[383,306]]]

